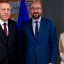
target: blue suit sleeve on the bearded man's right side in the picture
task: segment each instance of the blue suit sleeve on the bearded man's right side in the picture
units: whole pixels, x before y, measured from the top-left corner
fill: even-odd
[[[56,27],[52,22],[50,22],[50,44],[51,44],[51,55],[50,55],[49,63],[55,64],[58,53],[58,38],[57,38]]]

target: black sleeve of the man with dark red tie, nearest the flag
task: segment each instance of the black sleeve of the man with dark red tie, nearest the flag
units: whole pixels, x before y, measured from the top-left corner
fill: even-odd
[[[17,23],[15,24],[15,43],[16,43],[16,63],[19,64],[19,38],[18,38],[18,27],[17,27]]]

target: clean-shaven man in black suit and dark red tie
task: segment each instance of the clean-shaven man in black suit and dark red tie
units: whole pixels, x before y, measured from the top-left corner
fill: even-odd
[[[17,25],[10,13],[10,4],[0,2],[0,64],[19,64]]]

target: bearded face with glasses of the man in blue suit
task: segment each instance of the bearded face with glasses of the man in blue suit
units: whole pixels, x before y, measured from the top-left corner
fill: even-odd
[[[39,2],[35,2],[30,7],[30,13],[32,18],[38,19],[42,15],[42,7]]]

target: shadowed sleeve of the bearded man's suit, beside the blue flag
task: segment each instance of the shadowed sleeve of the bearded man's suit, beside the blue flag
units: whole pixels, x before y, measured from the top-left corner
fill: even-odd
[[[24,64],[25,62],[25,47],[26,47],[26,35],[25,35],[25,31],[24,31],[24,26],[21,27],[20,29],[20,34],[19,34],[19,38],[20,38],[20,63]]]

